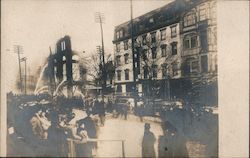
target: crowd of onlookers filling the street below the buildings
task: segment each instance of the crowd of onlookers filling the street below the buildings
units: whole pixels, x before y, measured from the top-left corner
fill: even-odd
[[[21,137],[23,142],[27,142],[27,146],[37,150],[35,156],[66,157],[71,150],[68,140],[73,140],[75,156],[92,157],[97,149],[97,143],[88,140],[97,138],[98,126],[104,126],[106,114],[112,114],[114,118],[127,119],[128,113],[133,113],[141,121],[148,115],[145,112],[148,107],[143,100],[138,101],[137,106],[134,107],[131,106],[130,101],[121,104],[118,99],[113,100],[110,97],[86,98],[80,108],[87,116],[80,120],[75,118],[72,112],[73,106],[61,106],[66,103],[60,100],[53,100],[47,105],[36,103],[32,106],[23,104],[24,101],[17,96],[12,96],[7,101],[8,128],[14,127],[16,137]],[[67,104],[70,103],[72,102],[67,102]],[[154,112],[153,109],[151,110]],[[211,113],[202,107],[191,105],[171,105],[168,108],[162,108],[160,118],[163,121],[164,134],[158,141],[159,156],[187,155],[185,126],[190,126],[194,119]],[[99,117],[98,123],[91,115]],[[142,141],[143,156],[155,157],[153,148],[155,141],[156,138],[150,131],[150,124],[146,123]]]

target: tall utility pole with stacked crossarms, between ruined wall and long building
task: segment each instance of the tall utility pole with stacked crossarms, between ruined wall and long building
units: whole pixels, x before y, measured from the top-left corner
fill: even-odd
[[[105,73],[105,55],[104,55],[104,42],[103,42],[103,29],[102,29],[102,24],[105,21],[105,17],[102,13],[100,12],[96,12],[95,13],[95,21],[97,23],[100,23],[100,28],[101,28],[101,40],[102,40],[102,49],[101,49],[101,53],[102,53],[102,77],[103,77],[103,84],[102,84],[102,88],[103,91],[106,88],[106,73]]]

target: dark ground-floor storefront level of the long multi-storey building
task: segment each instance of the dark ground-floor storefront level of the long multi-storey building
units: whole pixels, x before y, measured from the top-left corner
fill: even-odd
[[[134,92],[133,82],[115,84],[116,95],[139,96],[148,99],[176,100],[181,99],[187,102],[195,102],[203,105],[218,105],[218,83],[214,80],[210,83],[207,80],[191,78],[161,79],[161,80],[139,80],[136,82]]]

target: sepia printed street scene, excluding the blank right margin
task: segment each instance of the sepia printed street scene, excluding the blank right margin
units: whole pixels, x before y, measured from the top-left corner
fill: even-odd
[[[219,157],[217,3],[2,0],[6,156]]]

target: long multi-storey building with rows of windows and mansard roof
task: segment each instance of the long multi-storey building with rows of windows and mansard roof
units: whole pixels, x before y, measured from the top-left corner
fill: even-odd
[[[179,98],[194,79],[217,76],[216,2],[175,0],[115,27],[116,92]]]

